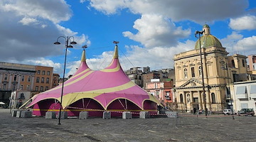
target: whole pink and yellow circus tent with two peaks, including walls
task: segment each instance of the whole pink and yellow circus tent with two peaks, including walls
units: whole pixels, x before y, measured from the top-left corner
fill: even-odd
[[[64,82],[63,102],[60,105],[62,84],[46,92],[36,94],[26,104],[33,107],[33,114],[44,116],[46,111],[58,112],[60,106],[68,116],[78,116],[89,111],[89,116],[101,116],[103,111],[154,111],[159,100],[137,86],[125,75],[118,60],[117,45],[112,62],[103,70],[90,70],[82,51],[80,67]]]

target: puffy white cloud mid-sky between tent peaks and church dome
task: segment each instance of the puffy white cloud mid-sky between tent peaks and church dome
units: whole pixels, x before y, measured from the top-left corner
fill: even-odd
[[[191,33],[188,29],[176,28],[174,23],[156,14],[142,15],[142,18],[134,22],[133,27],[138,33],[125,31],[124,37],[136,40],[145,47],[176,45],[178,38],[186,38]]]

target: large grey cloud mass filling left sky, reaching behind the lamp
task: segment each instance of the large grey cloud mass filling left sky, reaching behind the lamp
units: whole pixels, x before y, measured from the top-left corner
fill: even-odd
[[[63,0],[0,1],[0,52],[3,62],[26,62],[34,58],[63,55],[63,48],[53,45],[59,35],[73,35],[78,46],[90,43],[87,35],[60,26],[72,16]]]

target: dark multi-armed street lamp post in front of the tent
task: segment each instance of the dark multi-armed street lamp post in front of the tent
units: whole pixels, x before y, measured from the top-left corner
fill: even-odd
[[[61,95],[60,95],[60,111],[58,114],[58,125],[60,125],[60,117],[61,117],[61,109],[62,109],[62,102],[63,102],[63,89],[64,89],[64,80],[65,80],[65,64],[66,64],[66,60],[67,60],[67,50],[68,48],[73,48],[72,45],[68,45],[68,43],[70,42],[70,38],[73,38],[73,41],[70,42],[70,44],[76,44],[76,42],[74,41],[74,37],[70,36],[70,37],[65,37],[65,36],[59,36],[57,38],[57,41],[53,44],[55,45],[60,45],[60,42],[58,42],[59,38],[64,38],[65,39],[65,62],[64,62],[64,71],[63,71],[63,83],[62,83],[62,88],[61,88]]]

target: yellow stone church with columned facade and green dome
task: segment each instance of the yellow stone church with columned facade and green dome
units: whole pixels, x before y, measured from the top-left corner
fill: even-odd
[[[210,27],[204,25],[203,31],[194,50],[174,56],[175,102],[176,109],[181,111],[191,111],[193,107],[223,111],[230,107],[227,103],[230,99],[228,84],[234,82],[237,74],[247,72],[246,56],[237,54],[227,56],[228,53],[218,38],[210,34]],[[242,80],[242,77],[240,78]],[[203,95],[203,84],[205,95]],[[204,99],[206,99],[205,103]]]

